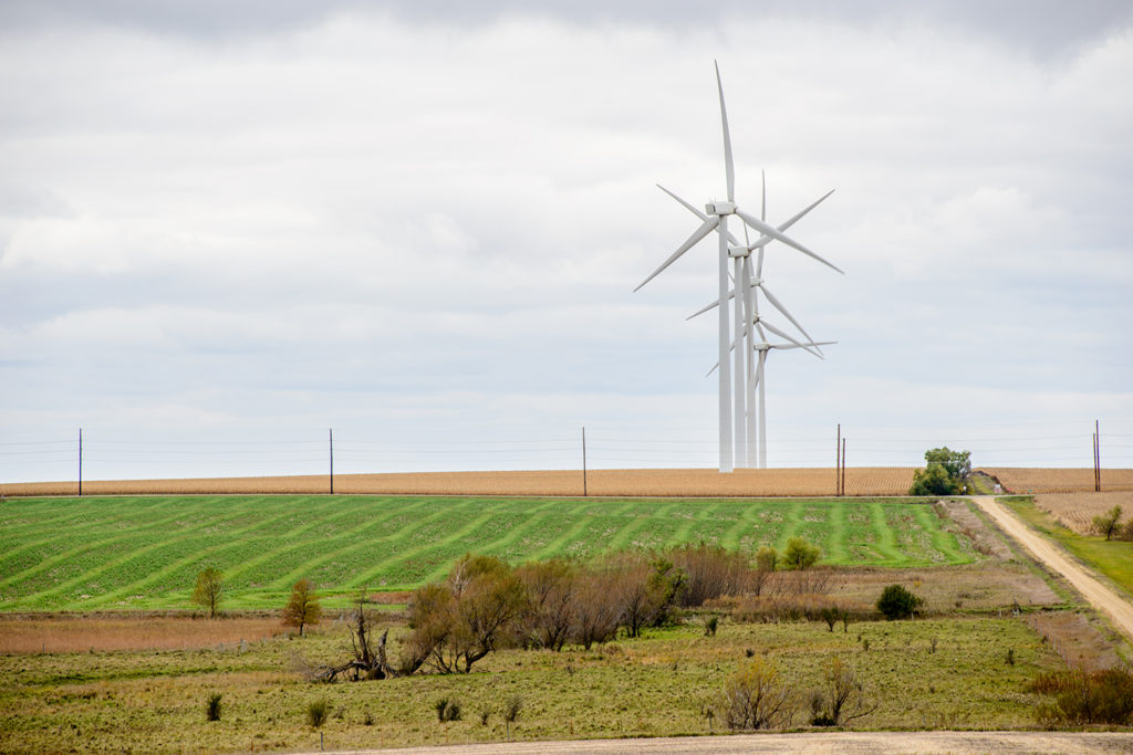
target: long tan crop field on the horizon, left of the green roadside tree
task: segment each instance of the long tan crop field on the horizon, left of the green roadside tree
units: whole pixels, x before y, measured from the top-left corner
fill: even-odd
[[[851,496],[903,496],[913,470],[863,466],[846,470]],[[75,482],[0,484],[6,496],[74,496]],[[271,478],[215,478],[197,480],[94,480],[83,482],[90,495],[180,494],[320,494],[327,492],[325,475]],[[736,470],[594,470],[587,474],[591,496],[832,496],[833,469]],[[335,494],[407,496],[581,496],[582,473],[569,471],[417,472],[342,474],[334,478]]]

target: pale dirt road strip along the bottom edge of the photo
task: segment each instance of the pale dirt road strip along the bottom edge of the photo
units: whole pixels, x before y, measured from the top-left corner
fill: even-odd
[[[380,750],[369,750],[380,752]],[[588,739],[576,741],[489,743],[450,747],[409,747],[404,755],[486,755],[505,753],[1133,753],[1133,735],[1051,731],[840,731],[756,733],[667,739]]]

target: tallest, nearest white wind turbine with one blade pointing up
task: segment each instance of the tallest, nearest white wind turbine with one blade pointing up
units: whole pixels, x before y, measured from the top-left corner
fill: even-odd
[[[730,299],[730,288],[729,288],[729,272],[727,272],[727,260],[733,258],[735,260],[735,280],[740,281],[741,290],[744,289],[744,281],[750,277],[750,264],[746,265],[742,260],[750,256],[751,250],[767,246],[772,241],[782,241],[789,247],[793,247],[799,251],[807,254],[816,259],[821,259],[815,252],[807,249],[804,246],[798,241],[785,235],[778,229],[768,225],[764,220],[757,218],[753,215],[743,212],[735,204],[735,169],[732,162],[732,137],[729,132],[727,127],[727,109],[724,106],[724,85],[719,77],[719,66],[716,65],[716,89],[719,94],[719,115],[721,123],[723,126],[724,132],[724,173],[727,181],[727,200],[726,201],[710,201],[705,206],[704,221],[696,231],[692,232],[684,243],[682,243],[676,251],[674,251],[668,259],[662,263],[661,267],[654,271],[640,285],[634,289],[638,291],[646,283],[656,277],[662,271],[676,261],[681,255],[696,246],[701,239],[717,231],[719,234],[719,259],[718,259],[718,272],[719,272],[719,363],[723,364],[729,359],[729,352],[731,349],[731,340],[729,337],[729,321],[727,321],[727,302]],[[738,216],[748,226],[758,231],[763,234],[756,240],[755,244],[751,246],[740,246],[730,247],[729,241],[734,240],[734,238],[727,232],[727,218],[730,215]],[[732,250],[736,250],[736,254],[732,254]],[[742,252],[740,251],[742,250]],[[823,260],[824,263],[826,260]],[[827,263],[829,264],[829,263]],[[833,265],[832,265],[833,267]],[[835,268],[837,269],[837,268]],[[744,300],[749,297],[744,295]],[[736,307],[736,333],[740,332],[740,320],[743,317],[740,311],[741,308]],[[738,376],[736,384],[743,381],[743,360],[738,360],[735,366],[735,374]],[[722,369],[719,371],[719,471],[731,472],[733,469],[733,448],[732,448],[732,383],[730,371]],[[744,411],[743,411],[743,400],[744,391],[740,385],[736,385],[736,396],[735,396],[735,427],[736,436],[747,435],[743,430],[744,428]],[[744,454],[746,456],[746,454]]]

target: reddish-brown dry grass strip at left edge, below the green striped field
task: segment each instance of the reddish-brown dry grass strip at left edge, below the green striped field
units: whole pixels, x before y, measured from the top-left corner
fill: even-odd
[[[279,617],[2,615],[0,654],[194,650],[282,635]]]

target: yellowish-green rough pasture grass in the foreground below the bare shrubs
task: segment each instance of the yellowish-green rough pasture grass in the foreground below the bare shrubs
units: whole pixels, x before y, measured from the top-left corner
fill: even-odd
[[[403,634],[395,627],[391,636]],[[471,675],[387,681],[313,685],[288,671],[297,650],[331,660],[348,646],[341,628],[322,627],[242,653],[0,657],[0,750],[59,752],[75,741],[94,750],[173,750],[185,743],[202,750],[310,749],[318,733],[307,711],[318,701],[333,711],[322,730],[335,749],[501,741],[504,707],[514,697],[523,701],[511,724],[519,740],[708,733],[705,707],[749,650],[770,658],[803,697],[819,684],[823,663],[841,657],[879,703],[860,728],[1017,729],[1034,726],[1040,702],[1024,683],[1062,668],[1021,620],[946,618],[858,623],[849,633],[829,633],[821,623],[723,621],[715,637],[690,624],[591,652],[502,651]],[[1014,664],[1005,662],[1008,650]],[[214,694],[223,714],[210,722],[203,702]],[[441,697],[470,713],[437,723]],[[795,726],[807,728],[802,711]]]

